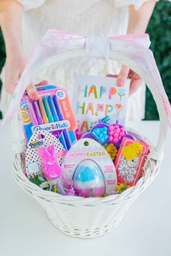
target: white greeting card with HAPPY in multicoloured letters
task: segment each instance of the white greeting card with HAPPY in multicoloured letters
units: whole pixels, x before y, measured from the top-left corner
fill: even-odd
[[[76,75],[72,106],[78,129],[87,133],[99,119],[109,116],[109,123],[125,125],[130,80],[123,87],[117,86],[117,78],[97,75]]]

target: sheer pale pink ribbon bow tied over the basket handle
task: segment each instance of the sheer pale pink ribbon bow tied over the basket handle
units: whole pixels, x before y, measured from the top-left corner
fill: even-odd
[[[167,120],[171,127],[171,107],[162,85],[162,79],[159,75],[156,62],[152,52],[148,49],[150,45],[149,36],[125,35],[125,36],[78,36],[74,33],[67,33],[60,30],[48,30],[43,39],[38,43],[33,55],[28,61],[22,76],[17,83],[7,115],[4,118],[5,123],[20,106],[20,99],[24,94],[25,88],[32,81],[30,78],[36,73],[36,67],[46,62],[48,67],[49,59],[57,54],[74,49],[86,50],[86,55],[96,59],[110,59],[111,53],[120,53],[128,59],[136,59],[137,65],[143,67],[143,70],[150,74],[154,79],[157,88],[164,102]],[[45,78],[46,79],[46,78]]]

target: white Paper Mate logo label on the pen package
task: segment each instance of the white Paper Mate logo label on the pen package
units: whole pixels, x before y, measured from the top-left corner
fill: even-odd
[[[43,125],[34,125],[32,126],[32,131],[35,133],[36,131],[58,131],[70,128],[70,122],[68,120],[62,120],[54,123],[45,123]]]

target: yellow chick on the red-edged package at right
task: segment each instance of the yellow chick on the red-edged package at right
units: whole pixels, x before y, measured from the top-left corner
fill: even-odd
[[[138,154],[140,154],[143,150],[143,146],[138,142],[133,142],[128,146],[125,146],[125,148],[122,150],[122,155],[127,160],[133,160],[133,158],[138,157]]]

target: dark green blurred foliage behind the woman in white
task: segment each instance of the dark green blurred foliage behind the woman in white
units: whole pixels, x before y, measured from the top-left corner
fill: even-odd
[[[171,101],[171,4],[169,1],[160,0],[157,3],[149,22],[147,33],[149,33],[151,38],[150,48],[154,52],[164,88]],[[4,65],[5,57],[4,40],[0,30],[0,71]],[[158,119],[157,107],[151,92],[147,88],[145,120]]]

